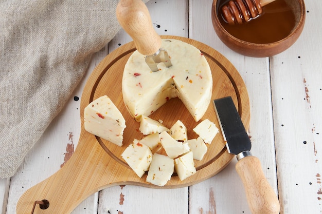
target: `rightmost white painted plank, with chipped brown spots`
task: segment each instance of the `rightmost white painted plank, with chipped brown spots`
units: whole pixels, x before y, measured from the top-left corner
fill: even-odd
[[[281,213],[322,213],[322,2],[306,1],[298,41],[273,58],[272,93]]]

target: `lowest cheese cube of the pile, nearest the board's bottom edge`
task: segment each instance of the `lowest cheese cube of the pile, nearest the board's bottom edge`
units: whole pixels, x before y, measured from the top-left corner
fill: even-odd
[[[164,186],[171,179],[173,171],[174,161],[172,158],[154,153],[147,176],[147,182],[157,186]]]

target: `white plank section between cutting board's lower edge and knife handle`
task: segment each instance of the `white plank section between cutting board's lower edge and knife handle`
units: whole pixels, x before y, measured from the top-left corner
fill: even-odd
[[[232,160],[216,176],[189,188],[189,213],[242,213],[251,214],[245,193],[236,178],[235,164]]]

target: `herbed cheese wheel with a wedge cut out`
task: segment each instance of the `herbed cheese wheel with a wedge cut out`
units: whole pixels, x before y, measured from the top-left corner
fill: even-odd
[[[172,66],[158,65],[152,72],[137,50],[129,57],[122,77],[124,103],[137,121],[149,116],[171,98],[178,97],[195,121],[206,112],[212,94],[212,75],[199,49],[173,39],[162,40]]]

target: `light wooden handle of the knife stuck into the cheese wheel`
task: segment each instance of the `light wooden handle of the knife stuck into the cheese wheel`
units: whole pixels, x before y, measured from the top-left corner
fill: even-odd
[[[141,0],[121,0],[116,17],[122,28],[132,37],[136,49],[143,55],[153,55],[161,47],[149,10]]]

